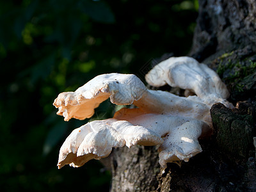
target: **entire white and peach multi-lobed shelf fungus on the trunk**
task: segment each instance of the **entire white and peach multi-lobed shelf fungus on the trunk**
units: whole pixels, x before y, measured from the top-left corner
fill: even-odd
[[[220,77],[193,58],[169,58],[152,68],[146,81],[152,86],[167,83],[195,95],[179,97],[148,90],[138,77],[116,73],[97,76],[76,92],[60,93],[54,106],[65,121],[90,118],[108,98],[113,104],[134,104],[137,108],[122,108],[113,118],[88,122],[75,129],[60,149],[58,168],[65,164],[83,166],[90,159],[109,156],[113,147],[125,145],[159,145],[162,167],[170,162],[188,161],[202,152],[198,138],[212,132],[212,104],[221,102],[233,107],[226,100],[228,90]]]

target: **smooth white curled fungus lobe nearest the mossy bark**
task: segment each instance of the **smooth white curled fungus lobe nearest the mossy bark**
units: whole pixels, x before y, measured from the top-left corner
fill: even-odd
[[[169,84],[193,92],[210,106],[221,102],[234,108],[226,100],[229,92],[218,74],[204,63],[198,63],[187,56],[171,57],[162,61],[146,74],[145,79],[148,84],[155,87]]]

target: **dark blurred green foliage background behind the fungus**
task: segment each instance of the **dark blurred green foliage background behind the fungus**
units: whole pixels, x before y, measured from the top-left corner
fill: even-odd
[[[99,161],[56,168],[61,144],[88,120],[64,122],[52,102],[99,74],[143,79],[152,58],[187,54],[197,9],[195,0],[1,1],[1,191],[108,191]],[[93,118],[114,109],[104,102]]]

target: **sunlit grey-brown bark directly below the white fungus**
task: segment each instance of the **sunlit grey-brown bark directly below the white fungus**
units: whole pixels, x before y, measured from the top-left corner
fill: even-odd
[[[123,155],[125,154],[125,155]],[[126,154],[129,154],[127,156]],[[111,166],[113,191],[153,191],[159,172],[156,147],[116,148]]]

